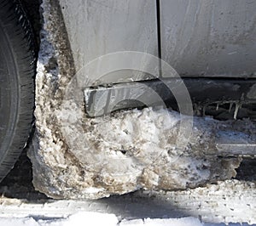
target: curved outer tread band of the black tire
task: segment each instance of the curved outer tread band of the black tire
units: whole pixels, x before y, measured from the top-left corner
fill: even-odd
[[[20,106],[10,149],[0,156],[0,182],[15,165],[31,133],[34,109],[35,42],[32,27],[19,0],[0,0],[0,22],[15,53],[20,78]]]

